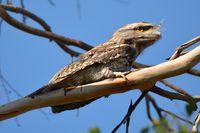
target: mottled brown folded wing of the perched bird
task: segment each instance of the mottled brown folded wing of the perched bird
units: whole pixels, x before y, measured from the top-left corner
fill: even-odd
[[[132,53],[134,55],[135,51],[127,52],[127,50],[132,50],[128,44],[104,43],[99,45],[81,55],[74,63],[62,68],[49,83],[56,83],[64,80],[74,73],[94,64],[105,64],[113,59],[126,56],[124,53]]]

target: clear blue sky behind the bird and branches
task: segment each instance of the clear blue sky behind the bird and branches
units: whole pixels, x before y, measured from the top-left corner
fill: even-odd
[[[127,23],[147,21],[161,24],[162,39],[137,59],[145,64],[164,62],[177,46],[199,35],[199,0],[80,0],[80,8],[77,8],[77,1],[54,0],[56,5],[51,6],[47,0],[29,0],[25,1],[25,5],[28,10],[45,19],[55,33],[82,40],[93,46],[105,42],[116,29]],[[17,0],[14,2],[18,5]],[[19,15],[14,16],[21,19]],[[40,28],[31,20],[27,23]],[[55,43],[3,23],[0,35],[1,70],[4,77],[22,95],[25,96],[46,84],[60,68],[70,62],[71,57]],[[185,74],[169,81],[191,94],[200,95],[197,77]],[[18,117],[20,127],[14,119],[10,119],[0,122],[0,130],[1,133],[86,133],[90,127],[97,126],[102,133],[108,133],[126,113],[130,99],[135,100],[139,94],[139,91],[131,91],[112,95],[79,110],[56,115],[52,114],[49,108],[45,108],[43,110],[49,119],[38,110],[31,111]],[[12,100],[18,98],[14,93],[9,96]],[[183,102],[152,96],[161,107],[184,115]],[[6,102],[6,95],[0,84],[0,104]],[[145,103],[142,101],[132,115],[130,130],[137,133],[141,127],[149,124]],[[119,132],[124,132],[124,126]]]

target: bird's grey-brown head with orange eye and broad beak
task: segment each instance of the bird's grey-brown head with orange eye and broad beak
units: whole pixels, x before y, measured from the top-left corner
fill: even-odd
[[[138,22],[125,25],[118,29],[110,39],[119,44],[130,44],[140,54],[161,37],[160,25]]]

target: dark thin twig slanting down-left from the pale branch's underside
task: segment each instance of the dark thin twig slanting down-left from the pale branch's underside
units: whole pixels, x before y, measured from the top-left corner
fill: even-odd
[[[136,106],[141,102],[141,100],[145,97],[148,91],[143,91],[140,97],[136,100],[136,102],[129,108],[127,114],[122,119],[122,121],[113,129],[111,133],[116,133],[116,131],[119,129],[119,127],[127,121],[127,119],[131,116],[132,112],[135,110]]]

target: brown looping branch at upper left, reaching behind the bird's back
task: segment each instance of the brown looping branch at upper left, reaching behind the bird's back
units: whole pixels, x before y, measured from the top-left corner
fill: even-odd
[[[61,43],[68,44],[68,45],[74,45],[74,46],[79,47],[84,50],[90,50],[92,48],[92,46],[90,46],[84,42],[74,40],[71,38],[66,38],[64,36],[55,34],[55,33],[51,32],[50,28],[48,28],[48,27],[45,27],[46,31],[30,27],[24,23],[19,22],[18,20],[14,19],[13,17],[11,17],[4,9],[13,11],[16,13],[18,12],[18,13],[24,14],[25,16],[30,17],[34,21],[38,22],[43,27],[46,26],[47,24],[44,23],[44,20],[42,20],[41,18],[38,19],[39,18],[38,16],[34,15],[33,13],[31,13],[25,9],[15,7],[12,5],[0,5],[0,17],[2,17],[2,19],[4,19],[7,23],[14,26],[15,28],[18,28],[18,29],[25,31],[27,33],[30,33],[30,34],[34,34],[37,36],[48,38],[50,40],[54,40],[56,43],[59,42],[60,45],[61,45]],[[69,51],[69,48],[68,48],[68,51]]]

